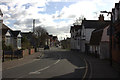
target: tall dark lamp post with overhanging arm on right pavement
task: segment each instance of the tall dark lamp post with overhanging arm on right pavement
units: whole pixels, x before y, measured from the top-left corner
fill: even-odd
[[[113,27],[113,17],[112,17],[112,12],[107,12],[107,11],[100,11],[101,13],[107,13],[108,15],[111,15],[111,22],[110,22],[110,37],[109,37],[109,41],[110,41],[110,46],[109,46],[109,52],[110,52],[110,65],[112,66],[112,27]],[[107,15],[107,16],[108,16]]]

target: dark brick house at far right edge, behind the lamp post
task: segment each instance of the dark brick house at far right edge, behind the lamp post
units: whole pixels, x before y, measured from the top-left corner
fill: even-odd
[[[112,35],[112,65],[120,71],[120,1],[115,3],[112,13],[112,28],[114,29]]]

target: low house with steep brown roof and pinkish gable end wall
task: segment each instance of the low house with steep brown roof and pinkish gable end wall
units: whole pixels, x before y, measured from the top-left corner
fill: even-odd
[[[95,29],[90,38],[90,53],[99,56],[100,59],[109,59],[109,25]]]

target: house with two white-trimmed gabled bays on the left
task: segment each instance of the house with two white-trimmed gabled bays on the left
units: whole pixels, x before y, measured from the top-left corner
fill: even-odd
[[[2,25],[2,40],[6,46],[14,50],[21,49],[21,31],[13,31],[5,24]]]

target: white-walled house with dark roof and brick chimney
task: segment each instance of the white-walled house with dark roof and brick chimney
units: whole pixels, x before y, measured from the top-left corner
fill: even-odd
[[[90,38],[92,32],[100,27],[107,26],[110,23],[108,20],[104,20],[104,16],[100,14],[99,20],[82,20],[82,30],[80,38],[81,52],[89,52],[90,50]]]

